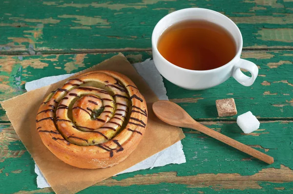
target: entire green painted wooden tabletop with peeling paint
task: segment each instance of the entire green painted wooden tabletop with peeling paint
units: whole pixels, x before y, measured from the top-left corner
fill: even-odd
[[[240,28],[242,57],[259,67],[250,87],[230,78],[190,91],[164,79],[169,99],[197,121],[272,155],[266,165],[199,132],[184,129],[187,162],[111,177],[89,193],[293,193],[292,0],[61,0],[0,2],[0,100],[25,92],[44,76],[81,71],[122,52],[131,63],[151,57],[151,32],[163,16],[188,7],[224,13]],[[236,116],[218,118],[215,100],[234,98],[260,129],[243,134]],[[0,108],[0,193],[53,193],[38,189],[34,161]]]

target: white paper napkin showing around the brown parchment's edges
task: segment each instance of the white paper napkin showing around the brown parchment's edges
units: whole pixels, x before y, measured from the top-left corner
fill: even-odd
[[[167,91],[163,83],[163,78],[160,75],[159,71],[155,67],[153,60],[147,59],[142,63],[133,64],[137,72],[146,80],[146,83],[150,86],[150,88],[155,92],[160,100],[168,100],[166,95]],[[32,82],[27,82],[25,84],[25,89],[27,91],[34,90],[40,88],[42,86],[47,86],[50,84],[54,84],[59,82],[63,79],[70,77],[73,74],[65,74],[59,76],[51,76],[51,77],[44,77],[39,80],[35,80]],[[165,166],[167,164],[182,164],[186,162],[184,152],[182,150],[183,146],[181,141],[173,144],[172,146],[168,147],[167,149],[160,151],[151,157],[145,159],[144,161],[126,169],[119,174],[126,173],[126,172],[134,172],[138,170],[144,169],[152,169],[154,167]],[[38,188],[45,188],[50,187],[47,183],[46,179],[42,175],[39,167],[35,165],[35,172],[37,173],[37,185]]]

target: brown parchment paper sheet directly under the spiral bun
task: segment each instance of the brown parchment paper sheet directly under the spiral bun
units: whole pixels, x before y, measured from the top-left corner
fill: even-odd
[[[114,70],[128,76],[144,95],[148,108],[148,122],[142,141],[125,161],[110,168],[87,170],[72,167],[59,160],[42,144],[35,124],[38,108],[43,98],[52,90],[61,86],[65,80],[1,102],[22,143],[31,153],[47,182],[57,194],[77,193],[128,169],[185,137],[181,129],[169,126],[156,118],[152,112],[151,105],[158,98],[122,54],[116,55],[76,75],[102,69]]]

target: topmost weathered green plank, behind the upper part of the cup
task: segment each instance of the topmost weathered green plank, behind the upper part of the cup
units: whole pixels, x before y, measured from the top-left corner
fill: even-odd
[[[293,48],[292,1],[5,0],[0,2],[0,54],[150,49],[155,24],[168,13],[189,7],[230,17],[242,31],[244,48]]]

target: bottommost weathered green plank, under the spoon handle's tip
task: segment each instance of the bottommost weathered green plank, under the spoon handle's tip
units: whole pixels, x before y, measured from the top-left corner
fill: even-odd
[[[82,193],[196,193],[275,194],[293,189],[293,121],[264,121],[260,129],[243,134],[235,122],[201,122],[244,144],[272,155],[267,165],[204,134],[184,129],[187,162],[121,174],[97,183]],[[38,190],[34,162],[11,124],[0,124],[0,193],[52,193]]]

